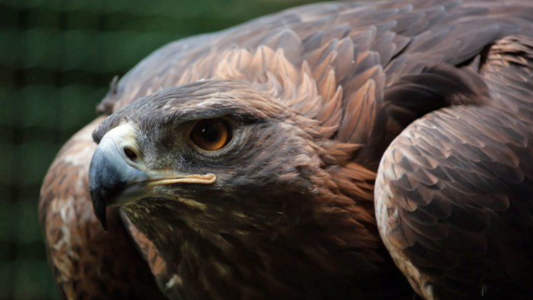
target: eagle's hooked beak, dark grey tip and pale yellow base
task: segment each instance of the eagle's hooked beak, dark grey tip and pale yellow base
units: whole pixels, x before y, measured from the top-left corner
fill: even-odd
[[[214,174],[176,174],[169,170],[148,170],[136,142],[132,125],[124,124],[104,135],[91,158],[89,192],[93,210],[107,231],[107,206],[116,207],[153,194],[157,185],[215,182]]]

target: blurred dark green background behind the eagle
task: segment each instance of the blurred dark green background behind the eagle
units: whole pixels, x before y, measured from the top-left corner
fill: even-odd
[[[58,298],[39,188],[114,75],[169,41],[309,2],[0,0],[0,299]]]

